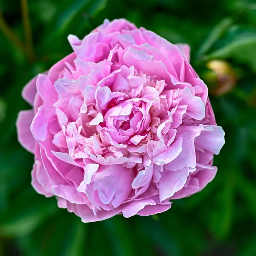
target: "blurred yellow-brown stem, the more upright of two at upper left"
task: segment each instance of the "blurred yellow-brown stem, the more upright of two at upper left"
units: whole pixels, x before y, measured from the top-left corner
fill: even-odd
[[[35,61],[35,53],[33,49],[31,26],[29,21],[29,8],[27,0],[20,0],[21,15],[23,22],[23,30],[25,35],[26,52],[29,56],[30,61]]]

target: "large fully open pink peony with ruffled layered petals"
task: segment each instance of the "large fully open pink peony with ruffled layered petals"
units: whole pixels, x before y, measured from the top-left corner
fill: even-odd
[[[124,19],[68,40],[74,52],[23,89],[35,190],[90,222],[164,212],[203,189],[224,131],[189,47]]]

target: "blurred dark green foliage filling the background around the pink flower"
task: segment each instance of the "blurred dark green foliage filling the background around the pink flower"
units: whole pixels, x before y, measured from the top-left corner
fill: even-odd
[[[16,40],[27,40],[20,2],[0,0],[0,255],[256,256],[256,2],[29,0],[28,5],[35,58]],[[67,35],[83,38],[105,18],[119,17],[191,46],[192,65],[213,92],[226,144],[215,157],[215,180],[175,200],[168,212],[84,224],[58,209],[55,198],[32,189],[33,156],[17,143],[15,120],[19,110],[29,108],[20,96],[26,82],[71,52]],[[228,81],[221,83],[207,70],[213,59],[227,61],[236,76],[224,95],[214,93]]]

